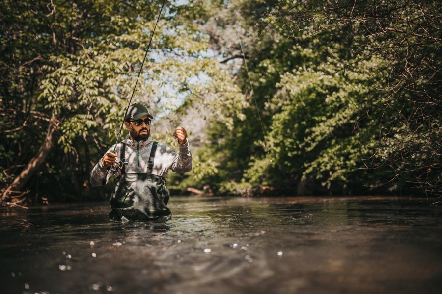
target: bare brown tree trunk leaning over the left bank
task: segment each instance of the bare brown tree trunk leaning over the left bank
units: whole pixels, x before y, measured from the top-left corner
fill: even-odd
[[[45,141],[38,150],[38,153],[28,162],[23,171],[14,179],[3,192],[0,202],[7,202],[14,194],[22,194],[22,189],[25,187],[28,180],[38,171],[41,164],[45,162],[49,151],[54,147],[54,132],[59,124],[59,121],[53,116],[49,123],[48,132],[46,133]]]

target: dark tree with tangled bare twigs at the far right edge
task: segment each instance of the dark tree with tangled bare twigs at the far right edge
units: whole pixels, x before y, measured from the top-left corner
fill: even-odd
[[[441,7],[438,1],[289,1],[270,14],[302,38],[331,34],[370,59],[381,56],[386,81],[376,102],[379,137],[367,166],[387,169],[398,187],[441,195]],[[294,36],[295,37],[295,36]],[[347,61],[348,65],[352,65]],[[439,66],[438,66],[439,65]],[[371,120],[367,112],[360,118]]]

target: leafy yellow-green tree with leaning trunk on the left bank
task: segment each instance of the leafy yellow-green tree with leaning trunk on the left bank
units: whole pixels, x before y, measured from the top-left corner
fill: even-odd
[[[14,195],[23,195],[29,179],[35,177],[43,163],[46,175],[42,181],[48,190],[51,182],[52,186],[70,182],[71,189],[60,190],[74,192],[77,198],[88,191],[88,173],[97,160],[95,157],[101,156],[101,149],[117,137],[161,2],[2,4],[7,8],[3,11],[14,11],[15,15],[7,24],[11,31],[8,36],[13,34],[13,29],[20,30],[18,24],[32,15],[31,33],[15,38],[21,42],[26,38],[42,40],[40,47],[30,41],[2,44],[4,50],[13,52],[13,60],[19,64],[23,59],[17,52],[29,51],[38,57],[26,63],[29,76],[26,80],[17,77],[16,87],[7,84],[14,80],[12,73],[2,81],[5,91],[16,89],[16,96],[9,92],[2,95],[3,113],[12,109],[17,117],[23,115],[27,123],[17,128],[13,125],[14,118],[4,116],[11,131],[3,132],[1,140],[9,146],[26,145],[29,149],[23,153],[23,148],[17,152],[11,148],[4,157],[10,176],[3,179],[9,186],[3,190],[2,202],[17,200]],[[192,9],[187,9],[190,6]],[[204,10],[193,1],[181,6],[166,2],[163,20],[157,28],[133,100],[150,105],[159,117],[160,108],[173,110],[181,104],[171,105],[172,99],[205,105],[212,109],[215,120],[225,115],[224,109],[236,109],[241,103],[241,93],[232,84],[230,75],[219,68],[216,60],[203,58],[207,37],[193,23],[200,13]],[[14,68],[11,63],[4,62],[3,73],[9,74],[11,68]],[[28,86],[32,89],[25,92]],[[28,121],[37,114],[50,124],[33,120],[35,129],[31,130]],[[38,134],[42,134],[44,128],[47,128],[46,134],[40,138]],[[29,131],[37,134],[35,141],[27,140],[25,135]],[[40,142],[42,147],[38,148]],[[56,145],[62,151],[56,148],[50,153]],[[18,163],[26,167],[20,171]],[[15,179],[14,174],[17,174]]]

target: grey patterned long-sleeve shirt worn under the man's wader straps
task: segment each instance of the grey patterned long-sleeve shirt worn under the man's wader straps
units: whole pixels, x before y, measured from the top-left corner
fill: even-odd
[[[111,146],[106,153],[112,152],[115,148],[117,159],[122,159],[122,161],[125,162],[126,176],[136,177],[137,173],[145,173],[147,171],[147,162],[149,161],[152,142],[152,140],[137,142],[126,138],[121,143],[117,144],[116,148],[115,145]],[[126,145],[125,158],[120,158],[121,144]],[[166,144],[158,142],[152,174],[166,177],[169,169],[178,173],[189,172],[192,170],[192,154],[187,140],[186,143],[180,145],[178,153]],[[90,174],[90,183],[92,186],[102,185],[106,171],[106,166],[103,164],[102,159],[100,159]],[[111,176],[112,173],[108,172],[106,183]]]

